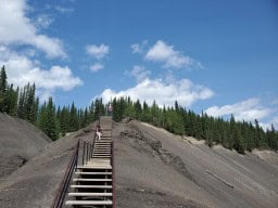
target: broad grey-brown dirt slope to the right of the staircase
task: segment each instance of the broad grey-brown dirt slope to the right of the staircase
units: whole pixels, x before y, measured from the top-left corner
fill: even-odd
[[[115,123],[113,135],[117,207],[278,207],[278,166],[256,155],[137,121]]]

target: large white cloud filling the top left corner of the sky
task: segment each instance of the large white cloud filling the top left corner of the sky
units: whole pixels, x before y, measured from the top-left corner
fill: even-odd
[[[28,6],[25,0],[1,1],[0,44],[33,46],[45,52],[49,57],[65,57],[66,54],[62,41],[58,38],[39,34],[38,28],[26,16]]]

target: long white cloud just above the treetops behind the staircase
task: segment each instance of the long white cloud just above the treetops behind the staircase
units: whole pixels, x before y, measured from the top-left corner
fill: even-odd
[[[175,101],[182,106],[190,106],[199,100],[206,100],[212,98],[214,92],[203,86],[194,84],[189,79],[176,80],[172,83],[165,83],[164,80],[149,78],[137,83],[134,88],[116,92],[111,89],[105,89],[101,93],[104,102],[109,102],[112,98],[130,96],[131,100],[146,101],[152,104],[155,100],[159,106],[172,106]]]

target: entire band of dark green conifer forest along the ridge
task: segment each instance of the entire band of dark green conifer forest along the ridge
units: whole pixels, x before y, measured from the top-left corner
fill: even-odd
[[[159,107],[146,102],[131,101],[130,98],[114,98],[113,119],[121,121],[129,117],[149,122],[179,135],[189,135],[205,140],[208,146],[222,144],[240,154],[245,151],[278,150],[278,132],[271,125],[264,130],[258,120],[236,121],[233,115],[229,119],[215,118],[202,113],[195,114],[173,101],[172,107]],[[40,104],[36,98],[36,86],[27,83],[24,88],[14,88],[8,83],[4,66],[0,73],[0,112],[15,116],[39,127],[52,140],[64,136],[66,132],[76,131],[98,120],[99,116],[108,115],[108,105],[102,99],[96,99],[91,105],[77,108],[74,103],[68,106],[55,106],[52,98]]]

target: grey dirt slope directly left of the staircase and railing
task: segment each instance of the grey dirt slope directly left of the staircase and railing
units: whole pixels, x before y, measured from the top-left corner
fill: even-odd
[[[0,182],[0,207],[50,208],[78,139],[92,140],[94,125],[46,145]],[[80,147],[81,148],[81,147]]]

